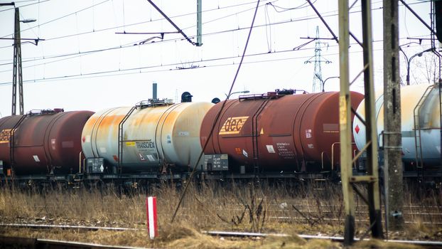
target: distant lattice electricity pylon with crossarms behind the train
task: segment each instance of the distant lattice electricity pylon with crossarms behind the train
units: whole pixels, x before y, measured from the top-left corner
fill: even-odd
[[[327,60],[323,58],[320,55],[321,46],[326,44],[328,46],[328,43],[320,42],[319,38],[319,26],[316,26],[316,45],[315,45],[315,55],[308,60],[306,60],[304,63],[315,63],[315,70],[313,72],[313,88],[312,92],[322,92],[324,88],[324,81],[323,81],[323,73],[321,69],[320,63],[331,63],[330,60]]]

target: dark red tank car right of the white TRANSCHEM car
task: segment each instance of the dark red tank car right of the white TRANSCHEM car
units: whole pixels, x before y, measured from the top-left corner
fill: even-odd
[[[336,168],[340,155],[339,92],[287,93],[291,92],[227,100],[204,153],[228,154],[231,171],[325,171],[332,165]],[[353,108],[362,99],[362,94],[351,92]],[[200,132],[202,146],[222,104],[205,115]]]

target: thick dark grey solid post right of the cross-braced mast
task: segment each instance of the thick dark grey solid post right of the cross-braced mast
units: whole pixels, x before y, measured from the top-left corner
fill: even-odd
[[[399,83],[399,0],[384,0],[384,187],[387,231],[404,228],[401,88]],[[413,56],[411,56],[413,58]],[[410,60],[411,60],[410,58]],[[409,61],[410,61],[409,60]],[[409,68],[409,67],[408,67]],[[409,85],[409,75],[407,75]]]

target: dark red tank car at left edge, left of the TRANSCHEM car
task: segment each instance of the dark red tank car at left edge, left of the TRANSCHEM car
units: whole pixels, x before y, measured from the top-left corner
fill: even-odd
[[[79,169],[89,111],[43,110],[0,119],[4,174],[67,174]]]

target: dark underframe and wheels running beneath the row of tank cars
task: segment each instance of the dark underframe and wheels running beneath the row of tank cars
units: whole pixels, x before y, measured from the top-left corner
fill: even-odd
[[[48,175],[6,175],[0,171],[0,186],[20,186],[23,189],[32,189],[42,186],[62,186],[63,188],[81,188],[83,186],[102,186],[113,184],[124,186],[125,189],[137,189],[158,182],[183,184],[190,179],[191,171],[179,173],[141,172],[132,174],[48,174]],[[364,171],[353,169],[353,175],[363,175]],[[415,179],[420,177],[425,182],[433,182],[435,177],[442,176],[441,171],[404,171],[404,178]],[[340,171],[322,172],[266,172],[266,173],[232,173],[231,171],[195,171],[193,179],[202,181],[330,181],[340,182]]]

